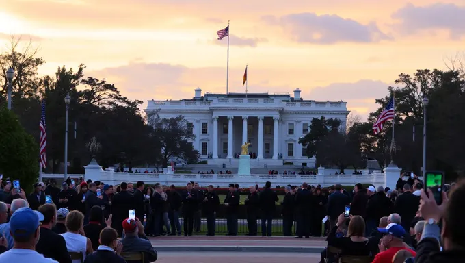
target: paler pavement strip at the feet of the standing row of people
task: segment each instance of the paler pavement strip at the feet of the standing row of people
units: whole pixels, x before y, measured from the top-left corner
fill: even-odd
[[[285,236],[162,236],[150,238],[159,252],[320,253],[325,238]],[[226,262],[222,262],[226,263]],[[287,262],[289,263],[289,262]]]

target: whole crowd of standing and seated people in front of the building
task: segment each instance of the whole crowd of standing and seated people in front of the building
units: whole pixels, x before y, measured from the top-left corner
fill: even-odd
[[[375,263],[413,258],[430,262],[425,253],[431,251],[438,252],[438,262],[464,256],[457,202],[465,195],[465,184],[453,185],[449,197],[444,192],[444,202],[438,206],[417,177],[402,178],[393,190],[362,184],[356,184],[353,192],[341,185],[328,189],[306,183],[288,185],[279,211],[282,234],[295,238],[326,235],[328,248],[321,252],[322,262],[337,262],[347,256],[367,257]],[[192,236],[200,231],[202,214],[207,235],[216,232],[220,198],[213,186],[203,191],[197,183],[188,182],[180,191],[174,185],[151,187],[138,181],[111,186],[82,178],[76,183],[73,179],[64,181],[61,189],[55,185],[53,179],[47,186],[34,184],[34,192],[26,195],[11,184],[2,184],[0,261],[21,258],[74,263],[81,262],[80,256],[83,262],[124,262],[124,253],[144,253],[145,261],[152,262],[157,260],[157,252],[148,236]],[[238,234],[241,195],[247,195],[248,236],[258,234],[259,220],[261,235],[271,236],[279,198],[270,182],[264,188],[251,186],[247,194],[239,185],[229,185],[223,201],[227,235]],[[441,219],[444,251],[439,253]]]

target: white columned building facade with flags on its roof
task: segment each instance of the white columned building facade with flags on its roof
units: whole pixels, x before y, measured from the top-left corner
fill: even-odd
[[[249,142],[251,166],[315,166],[307,158],[299,138],[309,132],[313,118],[338,118],[343,127],[347,103],[312,101],[289,93],[209,93],[197,88],[193,99],[148,101],[146,112],[158,111],[160,118],[182,115],[196,136],[194,149],[208,164],[237,166],[241,145]]]

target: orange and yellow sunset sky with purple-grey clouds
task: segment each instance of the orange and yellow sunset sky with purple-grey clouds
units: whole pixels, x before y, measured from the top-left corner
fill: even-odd
[[[11,34],[47,64],[87,66],[123,95],[181,99],[226,92],[302,90],[348,101],[363,118],[399,73],[444,69],[465,52],[465,0],[0,0],[0,52]]]

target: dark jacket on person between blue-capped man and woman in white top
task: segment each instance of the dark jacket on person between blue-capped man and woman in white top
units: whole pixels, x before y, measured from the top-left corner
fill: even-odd
[[[36,251],[45,258],[53,258],[59,263],[71,263],[64,238],[51,229],[40,227],[40,239],[36,245]]]

